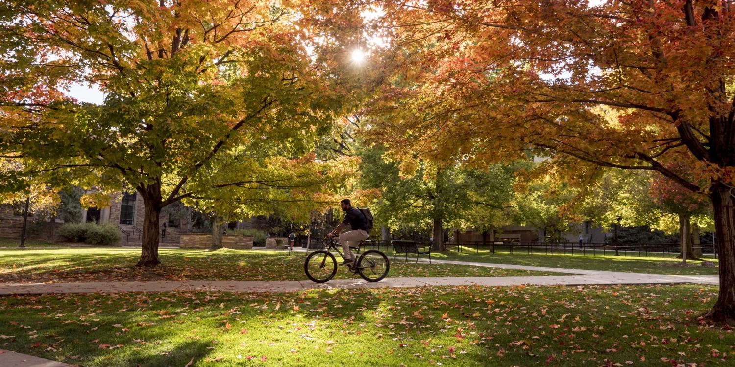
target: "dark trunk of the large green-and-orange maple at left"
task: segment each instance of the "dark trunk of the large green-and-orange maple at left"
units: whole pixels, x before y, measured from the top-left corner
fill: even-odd
[[[143,247],[140,260],[136,266],[157,266],[158,260],[158,225],[161,217],[161,187],[158,185],[138,189],[143,196]]]

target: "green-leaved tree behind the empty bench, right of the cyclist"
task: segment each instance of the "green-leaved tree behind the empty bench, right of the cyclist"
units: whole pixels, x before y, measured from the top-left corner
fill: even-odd
[[[523,164],[496,164],[487,170],[420,164],[402,176],[399,161],[380,145],[354,148],[362,158],[359,185],[379,189],[374,201],[377,225],[392,230],[429,230],[432,250],[447,250],[448,228],[492,230],[507,224],[514,171]]]

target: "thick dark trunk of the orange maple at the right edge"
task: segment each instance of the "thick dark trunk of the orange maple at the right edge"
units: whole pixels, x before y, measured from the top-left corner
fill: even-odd
[[[724,185],[712,188],[714,228],[717,234],[717,254],[720,258],[720,294],[709,313],[704,316],[718,323],[735,324],[735,210],[730,189]]]

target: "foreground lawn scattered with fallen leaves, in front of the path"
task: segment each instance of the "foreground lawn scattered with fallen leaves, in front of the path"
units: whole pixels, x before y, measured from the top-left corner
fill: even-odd
[[[0,298],[0,348],[82,366],[733,366],[711,286]],[[690,364],[696,363],[696,364]]]

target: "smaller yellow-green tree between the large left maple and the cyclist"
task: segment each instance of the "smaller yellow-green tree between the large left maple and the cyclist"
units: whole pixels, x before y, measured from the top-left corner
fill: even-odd
[[[227,158],[227,159],[223,159]],[[212,250],[222,247],[222,222],[276,214],[308,222],[312,211],[324,211],[342,197],[355,175],[357,159],[340,156],[317,159],[309,153],[298,159],[273,156],[265,160],[235,154],[221,157],[209,174],[190,181],[187,206],[212,217]]]

